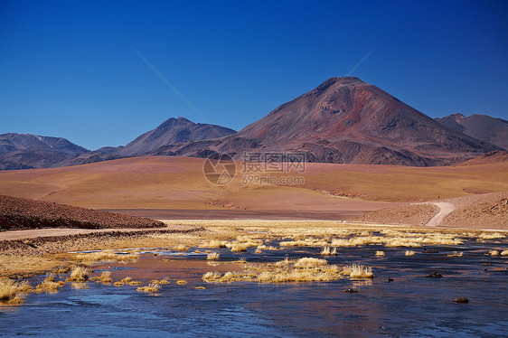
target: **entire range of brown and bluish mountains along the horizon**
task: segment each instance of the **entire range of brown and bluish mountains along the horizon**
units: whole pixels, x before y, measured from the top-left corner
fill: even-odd
[[[508,148],[508,121],[453,114],[433,119],[353,77],[331,78],[240,132],[184,117],[127,146],[90,152],[58,137],[0,135],[0,170],[88,164],[138,155],[235,157],[302,152],[308,162],[449,165]]]

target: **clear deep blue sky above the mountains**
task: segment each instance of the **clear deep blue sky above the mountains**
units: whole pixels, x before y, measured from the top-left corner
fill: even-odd
[[[240,130],[372,50],[352,75],[430,117],[508,119],[507,1],[2,0],[0,39],[0,134],[89,149],[169,117]]]

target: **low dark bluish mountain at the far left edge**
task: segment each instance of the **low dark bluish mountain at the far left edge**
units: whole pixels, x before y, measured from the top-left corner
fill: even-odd
[[[0,135],[0,170],[49,168],[88,152],[61,137],[3,134]]]

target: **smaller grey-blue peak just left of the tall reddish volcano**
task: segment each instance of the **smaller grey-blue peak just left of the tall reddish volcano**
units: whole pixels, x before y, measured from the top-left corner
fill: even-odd
[[[227,127],[193,123],[184,117],[172,117],[165,120],[159,127],[138,136],[115,154],[122,156],[143,155],[161,146],[202,141],[235,133],[236,131]]]

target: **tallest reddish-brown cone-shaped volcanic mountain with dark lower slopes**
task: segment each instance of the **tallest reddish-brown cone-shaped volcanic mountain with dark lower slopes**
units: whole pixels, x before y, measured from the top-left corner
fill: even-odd
[[[443,127],[385,91],[352,77],[332,78],[237,134],[165,146],[152,155],[237,157],[243,151],[305,152],[310,162],[447,165],[499,147]]]

